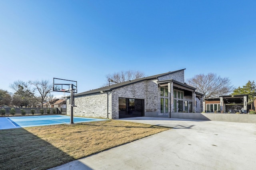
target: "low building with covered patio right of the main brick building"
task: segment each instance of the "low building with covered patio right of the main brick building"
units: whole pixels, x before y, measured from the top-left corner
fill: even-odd
[[[247,113],[248,95],[224,95],[204,100],[206,113]]]

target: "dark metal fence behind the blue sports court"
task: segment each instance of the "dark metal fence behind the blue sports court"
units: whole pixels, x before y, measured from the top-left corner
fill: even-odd
[[[40,107],[35,107],[35,108],[32,108],[32,107],[0,107],[0,109],[5,109],[5,116],[9,116],[9,115],[12,115],[10,113],[11,111],[11,108],[14,108],[15,109],[15,113],[14,115],[22,115],[22,111],[21,109],[23,109],[25,111],[25,115],[32,115],[32,112],[31,110],[34,109],[35,112],[34,112],[34,115],[42,115],[41,113],[41,109],[44,111],[43,114],[61,114],[61,111],[60,111],[60,108],[58,107],[49,107],[49,108],[40,108]],[[55,110],[55,113],[53,113]],[[2,115],[2,114],[1,114]]]

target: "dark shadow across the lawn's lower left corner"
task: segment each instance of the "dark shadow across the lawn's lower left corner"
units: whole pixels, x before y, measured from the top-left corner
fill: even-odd
[[[45,170],[75,160],[23,128],[0,130],[0,144],[0,169]]]

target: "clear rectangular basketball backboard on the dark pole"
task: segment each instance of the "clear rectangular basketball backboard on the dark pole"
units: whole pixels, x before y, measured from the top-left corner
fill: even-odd
[[[60,78],[53,78],[54,92],[70,92],[73,87],[73,92],[77,93],[77,82]]]

